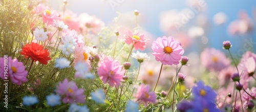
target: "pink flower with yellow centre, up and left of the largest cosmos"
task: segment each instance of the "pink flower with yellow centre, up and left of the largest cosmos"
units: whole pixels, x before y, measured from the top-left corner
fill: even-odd
[[[150,39],[143,39],[144,34],[139,33],[132,33],[130,30],[126,30],[125,36],[125,43],[127,44],[133,44],[135,50],[140,49],[143,51],[146,48],[146,42],[150,41]]]

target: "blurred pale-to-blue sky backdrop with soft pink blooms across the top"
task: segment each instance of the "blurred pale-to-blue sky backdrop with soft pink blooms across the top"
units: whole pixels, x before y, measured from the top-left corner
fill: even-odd
[[[256,2],[210,0],[67,0],[65,11],[77,15],[88,13],[101,19],[105,26],[119,17],[119,25],[136,27],[134,10],[138,10],[138,24],[145,38],[173,36],[181,41],[187,55],[200,53],[204,48],[222,50],[222,42],[229,40],[235,58],[245,51],[256,50]],[[63,11],[63,1],[49,1],[48,6]],[[121,34],[123,35],[123,34]]]

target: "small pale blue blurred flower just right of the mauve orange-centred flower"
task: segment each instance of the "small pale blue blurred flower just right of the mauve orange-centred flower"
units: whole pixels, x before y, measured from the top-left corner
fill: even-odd
[[[96,103],[104,103],[105,94],[103,93],[102,89],[97,89],[95,92],[92,92],[91,96],[92,100],[94,100]]]

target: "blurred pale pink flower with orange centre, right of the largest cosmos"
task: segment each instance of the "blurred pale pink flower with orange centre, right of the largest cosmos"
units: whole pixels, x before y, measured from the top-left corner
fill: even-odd
[[[220,72],[230,64],[225,54],[215,48],[204,49],[200,57],[202,65],[209,71]]]

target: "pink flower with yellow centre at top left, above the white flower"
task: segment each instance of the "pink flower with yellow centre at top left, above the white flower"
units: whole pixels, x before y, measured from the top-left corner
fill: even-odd
[[[45,10],[42,14],[42,21],[47,25],[53,25],[54,21],[59,20],[59,14],[55,10]]]

